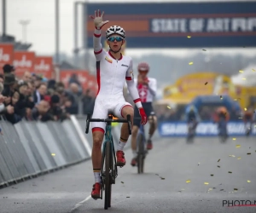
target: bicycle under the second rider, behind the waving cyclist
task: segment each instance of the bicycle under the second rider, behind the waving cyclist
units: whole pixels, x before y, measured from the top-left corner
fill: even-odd
[[[154,115],[154,113],[151,113]],[[141,118],[135,118],[141,119]],[[152,116],[148,117],[148,120],[153,119]],[[154,121],[154,120],[153,120]],[[141,174],[144,172],[144,160],[148,153],[148,150],[145,148],[146,145],[146,136],[144,126],[140,124],[140,128],[137,133],[137,173]]]

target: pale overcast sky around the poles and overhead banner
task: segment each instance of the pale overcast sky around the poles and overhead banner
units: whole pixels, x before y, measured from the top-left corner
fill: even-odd
[[[60,50],[67,55],[73,54],[74,35],[73,35],[73,4],[77,0],[60,0]],[[214,0],[214,2],[227,0]],[[234,0],[233,0],[234,1]],[[236,1],[236,0],[235,0]],[[26,41],[32,43],[30,50],[36,51],[37,55],[53,55],[55,52],[55,0],[6,0],[7,2],[7,33],[16,37],[17,41],[22,41],[22,26],[20,20],[29,20],[30,23],[26,27]],[[84,1],[82,1],[84,2]],[[137,0],[126,1],[102,1],[87,0],[86,2],[107,3],[107,2],[137,2]],[[207,0],[159,0],[148,2],[209,2]],[[100,5],[100,4],[99,4]],[[0,3],[0,11],[2,14],[2,1]],[[92,11],[93,13],[93,11]],[[82,46],[82,8],[79,9],[79,46]],[[2,17],[1,19],[2,20]],[[2,34],[2,21],[0,21],[0,34]],[[154,49],[159,51],[160,49]],[[165,55],[191,55],[200,50],[197,49],[161,49]],[[148,49],[127,49],[127,55],[144,55],[151,54],[153,50]],[[219,52],[226,54],[241,53],[244,55],[252,55],[255,49],[211,49],[212,54]]]

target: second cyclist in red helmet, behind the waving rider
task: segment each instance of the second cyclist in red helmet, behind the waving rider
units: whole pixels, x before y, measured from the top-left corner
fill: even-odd
[[[154,135],[154,131],[157,127],[157,118],[154,114],[154,109],[152,106],[152,102],[154,101],[154,97],[156,95],[157,90],[157,82],[155,78],[148,78],[149,66],[146,62],[141,62],[137,66],[137,71],[139,72],[138,78],[134,79],[134,82],[137,84],[137,89],[143,103],[143,109],[146,112],[148,117],[148,122],[150,124],[149,132],[148,132],[148,141],[147,141],[147,149],[152,149],[152,136]],[[134,120],[133,127],[131,133],[131,150],[133,153],[133,158],[131,160],[131,165],[135,166],[137,164],[137,131],[140,126],[139,120],[136,118],[139,117],[139,112],[137,107],[134,112]]]

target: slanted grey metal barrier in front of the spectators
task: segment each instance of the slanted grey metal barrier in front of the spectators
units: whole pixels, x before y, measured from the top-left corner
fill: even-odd
[[[78,124],[74,116],[62,123],[21,121],[15,125],[2,118],[0,186],[89,159],[91,147]]]

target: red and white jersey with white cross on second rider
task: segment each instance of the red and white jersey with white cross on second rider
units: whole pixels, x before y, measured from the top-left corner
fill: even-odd
[[[137,85],[137,78],[134,79]],[[156,95],[157,82],[155,78],[148,78],[148,85],[137,85],[137,90],[140,95],[142,103],[153,102]]]

